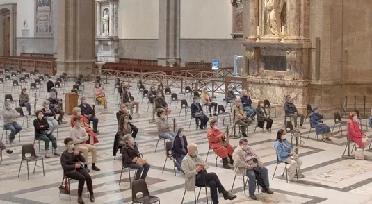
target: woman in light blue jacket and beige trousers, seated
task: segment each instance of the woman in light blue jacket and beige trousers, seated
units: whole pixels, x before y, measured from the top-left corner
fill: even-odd
[[[298,158],[293,147],[286,140],[286,133],[283,129],[277,131],[277,139],[274,144],[275,151],[277,152],[277,159],[280,162],[286,162],[291,165],[288,169],[288,180],[291,181],[296,175],[297,178],[304,178],[301,173],[298,173],[297,169],[300,169],[302,160]]]

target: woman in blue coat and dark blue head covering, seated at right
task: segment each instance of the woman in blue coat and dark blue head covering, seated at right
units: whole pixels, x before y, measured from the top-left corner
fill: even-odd
[[[310,117],[310,127],[315,128],[316,134],[321,134],[322,135],[322,141],[327,142],[327,141],[332,141],[330,139],[331,135],[331,129],[330,126],[327,126],[326,124],[323,124],[323,113],[321,108],[316,105],[312,109],[312,112],[309,114]]]

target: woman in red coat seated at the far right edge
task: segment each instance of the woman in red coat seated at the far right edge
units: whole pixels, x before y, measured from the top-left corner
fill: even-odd
[[[350,132],[349,132],[350,128]],[[355,142],[359,148],[366,148],[371,144],[371,139],[366,137],[366,134],[359,128],[358,117],[356,112],[350,112],[348,123],[346,124],[346,134],[350,133],[350,139]]]

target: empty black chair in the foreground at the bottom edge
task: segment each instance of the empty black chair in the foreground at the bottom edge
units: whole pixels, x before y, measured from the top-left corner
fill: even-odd
[[[142,194],[142,196],[137,197],[137,194]],[[133,188],[131,189],[131,203],[143,203],[143,204],[151,204],[151,203],[159,203],[160,198],[156,196],[151,196],[149,194],[149,189],[147,188],[147,183],[145,180],[134,180],[133,181]]]

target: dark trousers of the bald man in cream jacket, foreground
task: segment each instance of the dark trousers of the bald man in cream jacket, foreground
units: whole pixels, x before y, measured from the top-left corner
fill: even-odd
[[[202,172],[202,173],[200,173]],[[220,194],[225,191],[225,188],[220,182],[216,173],[207,173],[207,171],[200,171],[196,176],[196,186],[207,186],[211,189],[211,197],[213,203],[218,203],[217,189]]]

